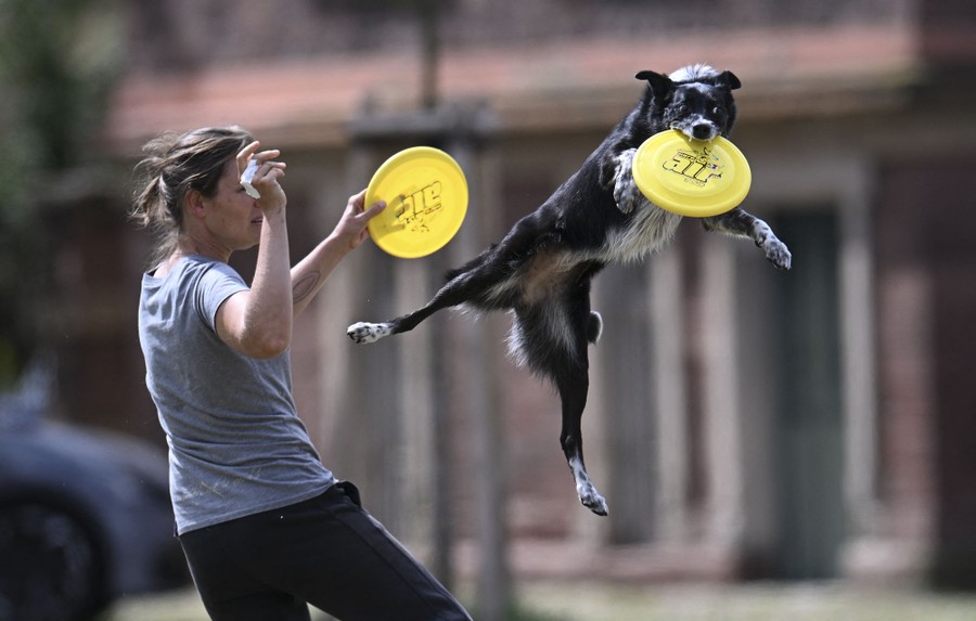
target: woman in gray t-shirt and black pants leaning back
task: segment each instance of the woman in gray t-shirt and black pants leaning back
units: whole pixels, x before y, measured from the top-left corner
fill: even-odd
[[[323,465],[291,389],[292,323],[365,241],[364,192],[288,262],[285,164],[242,129],[146,144],[133,215],[159,235],[143,275],[139,337],[166,431],[177,533],[215,620],[470,617]],[[240,176],[251,159],[260,197]],[[251,286],[228,266],[258,245]]]

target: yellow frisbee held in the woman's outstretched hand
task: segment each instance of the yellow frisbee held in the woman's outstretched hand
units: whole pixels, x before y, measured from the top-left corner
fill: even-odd
[[[403,150],[376,169],[365,205],[386,200],[370,220],[373,241],[395,257],[414,259],[451,241],[467,212],[467,180],[454,159],[431,146]]]

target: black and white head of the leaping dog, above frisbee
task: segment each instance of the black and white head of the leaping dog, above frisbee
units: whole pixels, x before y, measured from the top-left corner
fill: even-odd
[[[677,129],[695,140],[728,135],[735,122],[732,91],[742,82],[732,72],[718,72],[708,65],[689,65],[669,76],[641,72],[654,101],[651,114],[658,117],[652,127]]]

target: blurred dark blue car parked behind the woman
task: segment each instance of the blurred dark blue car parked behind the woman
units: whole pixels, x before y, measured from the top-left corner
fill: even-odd
[[[165,453],[0,398],[0,621],[82,621],[190,582]]]

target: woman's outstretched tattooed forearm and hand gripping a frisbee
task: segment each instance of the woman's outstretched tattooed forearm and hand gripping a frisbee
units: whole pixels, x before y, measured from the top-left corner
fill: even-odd
[[[343,258],[370,236],[367,223],[383,211],[386,204],[380,202],[363,209],[364,199],[365,190],[350,196],[332,233],[292,268],[293,316],[298,316],[308,307]]]

